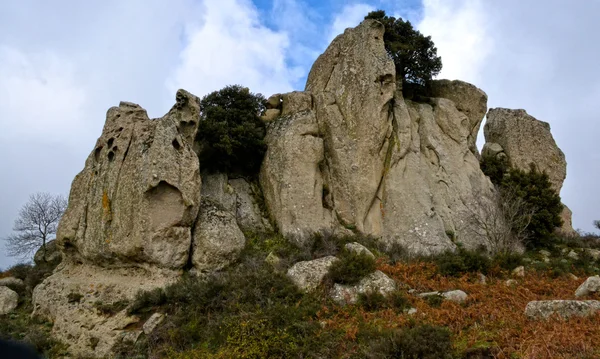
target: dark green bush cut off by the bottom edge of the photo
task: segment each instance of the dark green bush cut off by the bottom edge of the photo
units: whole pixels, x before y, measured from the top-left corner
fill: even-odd
[[[446,328],[428,324],[398,330],[377,342],[369,358],[452,359],[452,341]]]

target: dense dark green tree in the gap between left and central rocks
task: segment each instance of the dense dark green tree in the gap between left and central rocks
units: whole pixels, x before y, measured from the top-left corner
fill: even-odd
[[[232,85],[212,92],[200,101],[200,144],[203,169],[254,175],[262,163],[266,145],[260,116],[266,100],[248,88]]]

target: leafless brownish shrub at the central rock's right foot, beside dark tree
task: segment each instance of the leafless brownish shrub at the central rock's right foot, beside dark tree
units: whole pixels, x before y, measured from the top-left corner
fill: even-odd
[[[535,208],[511,189],[497,189],[489,200],[484,196],[471,212],[470,230],[486,239],[492,254],[507,253],[522,246]]]

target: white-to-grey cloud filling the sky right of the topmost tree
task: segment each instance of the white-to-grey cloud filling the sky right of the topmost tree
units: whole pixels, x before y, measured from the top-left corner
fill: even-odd
[[[568,167],[561,196],[575,228],[599,219],[600,2],[425,0],[418,28],[442,56],[440,77],[473,82],[488,107],[524,108],[549,122]],[[480,136],[479,143],[483,142]]]

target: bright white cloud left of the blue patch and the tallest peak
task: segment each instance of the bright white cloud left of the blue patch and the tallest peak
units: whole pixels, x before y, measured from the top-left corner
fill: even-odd
[[[197,95],[241,84],[269,96],[292,90],[301,74],[286,65],[286,34],[261,25],[254,6],[243,0],[206,0],[201,22],[186,31],[181,62],[169,88]]]

